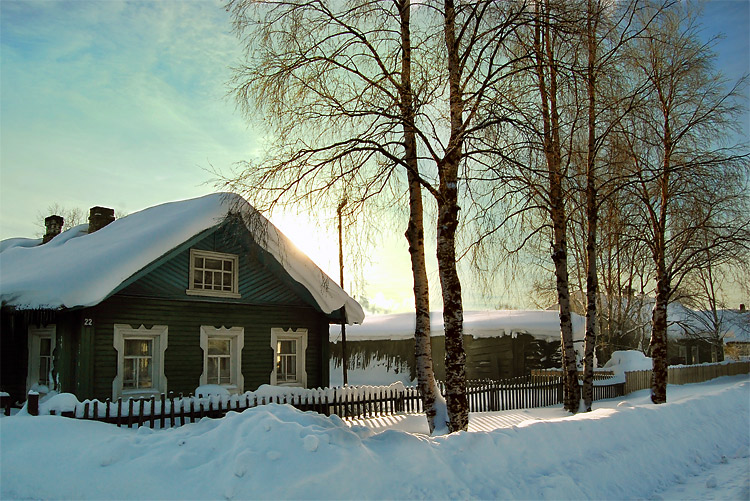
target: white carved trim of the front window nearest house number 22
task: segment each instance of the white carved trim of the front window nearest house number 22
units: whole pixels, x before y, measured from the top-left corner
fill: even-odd
[[[164,375],[164,352],[167,351],[167,338],[169,329],[166,325],[154,325],[147,329],[141,325],[134,329],[128,324],[115,324],[115,335],[113,345],[117,350],[117,375],[112,381],[112,399],[119,397],[143,397],[159,395],[167,392],[167,377]],[[123,390],[122,380],[125,361],[125,340],[126,339],[152,339],[153,347],[153,388]]]

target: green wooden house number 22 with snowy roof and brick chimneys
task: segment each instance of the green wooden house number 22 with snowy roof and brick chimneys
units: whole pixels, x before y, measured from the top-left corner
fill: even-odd
[[[236,195],[0,246],[0,390],[85,398],[328,385],[331,323],[359,304]]]

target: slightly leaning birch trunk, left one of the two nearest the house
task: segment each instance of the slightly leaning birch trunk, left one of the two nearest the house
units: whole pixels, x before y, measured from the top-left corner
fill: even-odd
[[[411,29],[409,0],[401,3],[401,114],[404,123],[404,160],[407,164],[409,182],[409,225],[406,240],[409,242],[411,269],[414,277],[414,305],[416,327],[414,329],[414,357],[417,364],[417,384],[422,394],[422,405],[427,417],[430,434],[435,431],[437,406],[442,402],[435,382],[432,366],[432,345],[430,344],[430,293],[427,281],[427,266],[424,251],[424,218],[422,208],[422,188],[419,184],[417,162],[417,140],[414,130],[414,101],[411,86]],[[441,413],[445,415],[445,413]],[[440,428],[444,423],[437,423]]]

